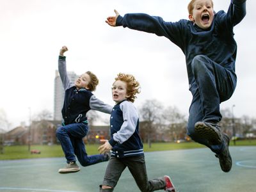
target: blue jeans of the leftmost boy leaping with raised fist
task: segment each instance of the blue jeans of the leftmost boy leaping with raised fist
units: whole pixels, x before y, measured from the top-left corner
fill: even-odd
[[[84,136],[88,133],[88,124],[69,124],[58,127],[56,136],[61,143],[62,150],[67,159],[67,163],[76,161],[76,156],[82,166],[106,161],[106,156],[99,154],[88,156],[83,142]],[[76,156],[75,156],[76,155]]]

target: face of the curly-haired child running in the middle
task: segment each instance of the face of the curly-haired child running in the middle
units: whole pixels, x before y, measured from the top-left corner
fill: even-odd
[[[125,99],[127,99],[129,96],[127,95],[127,83],[124,81],[117,80],[113,83],[112,87],[112,98],[113,100],[118,103]]]

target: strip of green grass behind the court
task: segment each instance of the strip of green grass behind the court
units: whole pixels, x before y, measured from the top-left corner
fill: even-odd
[[[256,146],[256,140],[243,140],[236,141],[236,146]],[[89,155],[98,154],[97,148],[100,144],[86,145],[86,151]],[[230,141],[230,146],[234,146],[234,142]],[[200,145],[195,142],[189,143],[152,143],[151,148],[147,143],[144,143],[144,151],[161,151],[161,150],[178,150],[188,148],[203,148],[204,145]],[[60,145],[31,145],[31,150],[40,150],[41,154],[30,154],[27,145],[17,145],[4,147],[4,154],[0,154],[0,160],[6,159],[30,159],[30,158],[43,158],[43,157],[64,157]]]

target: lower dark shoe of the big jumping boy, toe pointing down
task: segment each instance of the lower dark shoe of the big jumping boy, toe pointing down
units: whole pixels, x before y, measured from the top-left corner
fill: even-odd
[[[215,156],[219,158],[220,167],[223,172],[229,172],[232,167],[232,158],[230,156],[228,146],[229,146],[230,139],[228,138],[227,134],[223,133],[223,143],[224,148],[220,154],[216,154]]]

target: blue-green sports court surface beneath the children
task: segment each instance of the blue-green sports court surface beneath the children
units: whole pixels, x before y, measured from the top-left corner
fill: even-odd
[[[147,152],[148,179],[170,175],[180,192],[256,191],[256,147],[230,147],[230,153],[232,170],[224,173],[208,148]],[[107,162],[61,175],[58,169],[63,166],[64,157],[0,161],[0,192],[99,191]],[[127,169],[115,191],[140,191]]]

